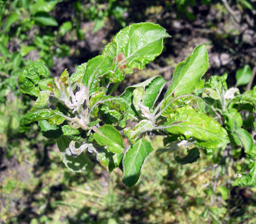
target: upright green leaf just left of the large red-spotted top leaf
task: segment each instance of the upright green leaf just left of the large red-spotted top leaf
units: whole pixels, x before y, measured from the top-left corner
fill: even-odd
[[[96,91],[96,85],[100,82],[100,77],[109,71],[113,59],[109,56],[99,55],[90,59],[87,63],[83,82],[89,88],[90,95]]]

